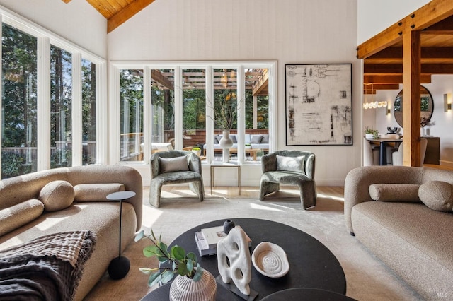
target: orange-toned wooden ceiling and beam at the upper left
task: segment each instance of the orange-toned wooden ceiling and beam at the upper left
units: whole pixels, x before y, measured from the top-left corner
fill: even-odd
[[[62,0],[69,3],[71,0]],[[107,19],[107,33],[147,7],[154,0],[86,0]]]

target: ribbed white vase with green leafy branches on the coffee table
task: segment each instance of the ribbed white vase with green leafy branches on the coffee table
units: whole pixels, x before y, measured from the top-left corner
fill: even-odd
[[[177,274],[170,287],[170,300],[194,300],[194,294],[197,296],[202,291],[202,299],[214,301],[217,291],[217,283],[214,276],[209,271],[203,269],[197,261],[197,256],[193,252],[185,252],[185,249],[177,244],[173,245],[168,251],[168,246],[154,235],[151,229],[151,235],[145,235],[140,231],[135,236],[135,241],[142,239],[151,240],[151,244],[144,247],[143,254],[146,257],[156,257],[160,264],[170,264],[171,268],[140,268],[140,271],[149,275],[148,285],[156,283],[168,283]]]

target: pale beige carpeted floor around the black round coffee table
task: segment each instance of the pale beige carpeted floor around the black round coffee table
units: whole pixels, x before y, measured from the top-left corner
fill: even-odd
[[[340,193],[338,193],[340,190]],[[335,254],[345,271],[346,295],[357,300],[422,300],[406,283],[379,261],[373,254],[349,235],[343,218],[343,189],[318,187],[315,208],[301,209],[297,191],[284,189],[267,201],[258,201],[256,187],[243,187],[242,197],[228,196],[230,190],[216,187],[214,195],[206,191],[205,201],[198,202],[185,187],[164,193],[160,208],[149,206],[149,191],[144,190],[143,228],[162,233],[164,242],[201,223],[226,218],[263,218],[298,228],[321,241]],[[142,255],[146,241],[132,242],[124,255],[131,261],[131,270],[125,278],[112,281],[107,274],[93,288],[86,300],[139,300],[150,290],[147,276],[139,267],[157,266],[155,260]]]

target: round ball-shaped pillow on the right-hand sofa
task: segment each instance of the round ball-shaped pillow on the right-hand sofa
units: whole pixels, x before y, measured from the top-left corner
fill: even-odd
[[[452,185],[447,182],[429,181],[420,185],[418,196],[432,210],[452,212],[452,192]]]

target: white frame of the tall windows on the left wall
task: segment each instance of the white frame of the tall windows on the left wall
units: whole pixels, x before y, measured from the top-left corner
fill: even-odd
[[[50,45],[62,48],[72,56],[72,166],[82,165],[82,93],[81,59],[96,64],[96,163],[108,163],[107,112],[107,64],[105,59],[52,33],[50,30],[16,13],[0,7],[0,21],[18,30],[33,35],[38,40],[38,166],[37,170],[50,169]],[[1,35],[0,28],[0,35]],[[1,61],[2,52],[0,52]],[[0,77],[3,78],[0,70]],[[0,95],[3,95],[0,85]],[[0,97],[0,107],[3,99]],[[0,117],[0,131],[2,130]],[[77,151],[76,151],[77,150]],[[0,153],[1,169],[1,153]]]

